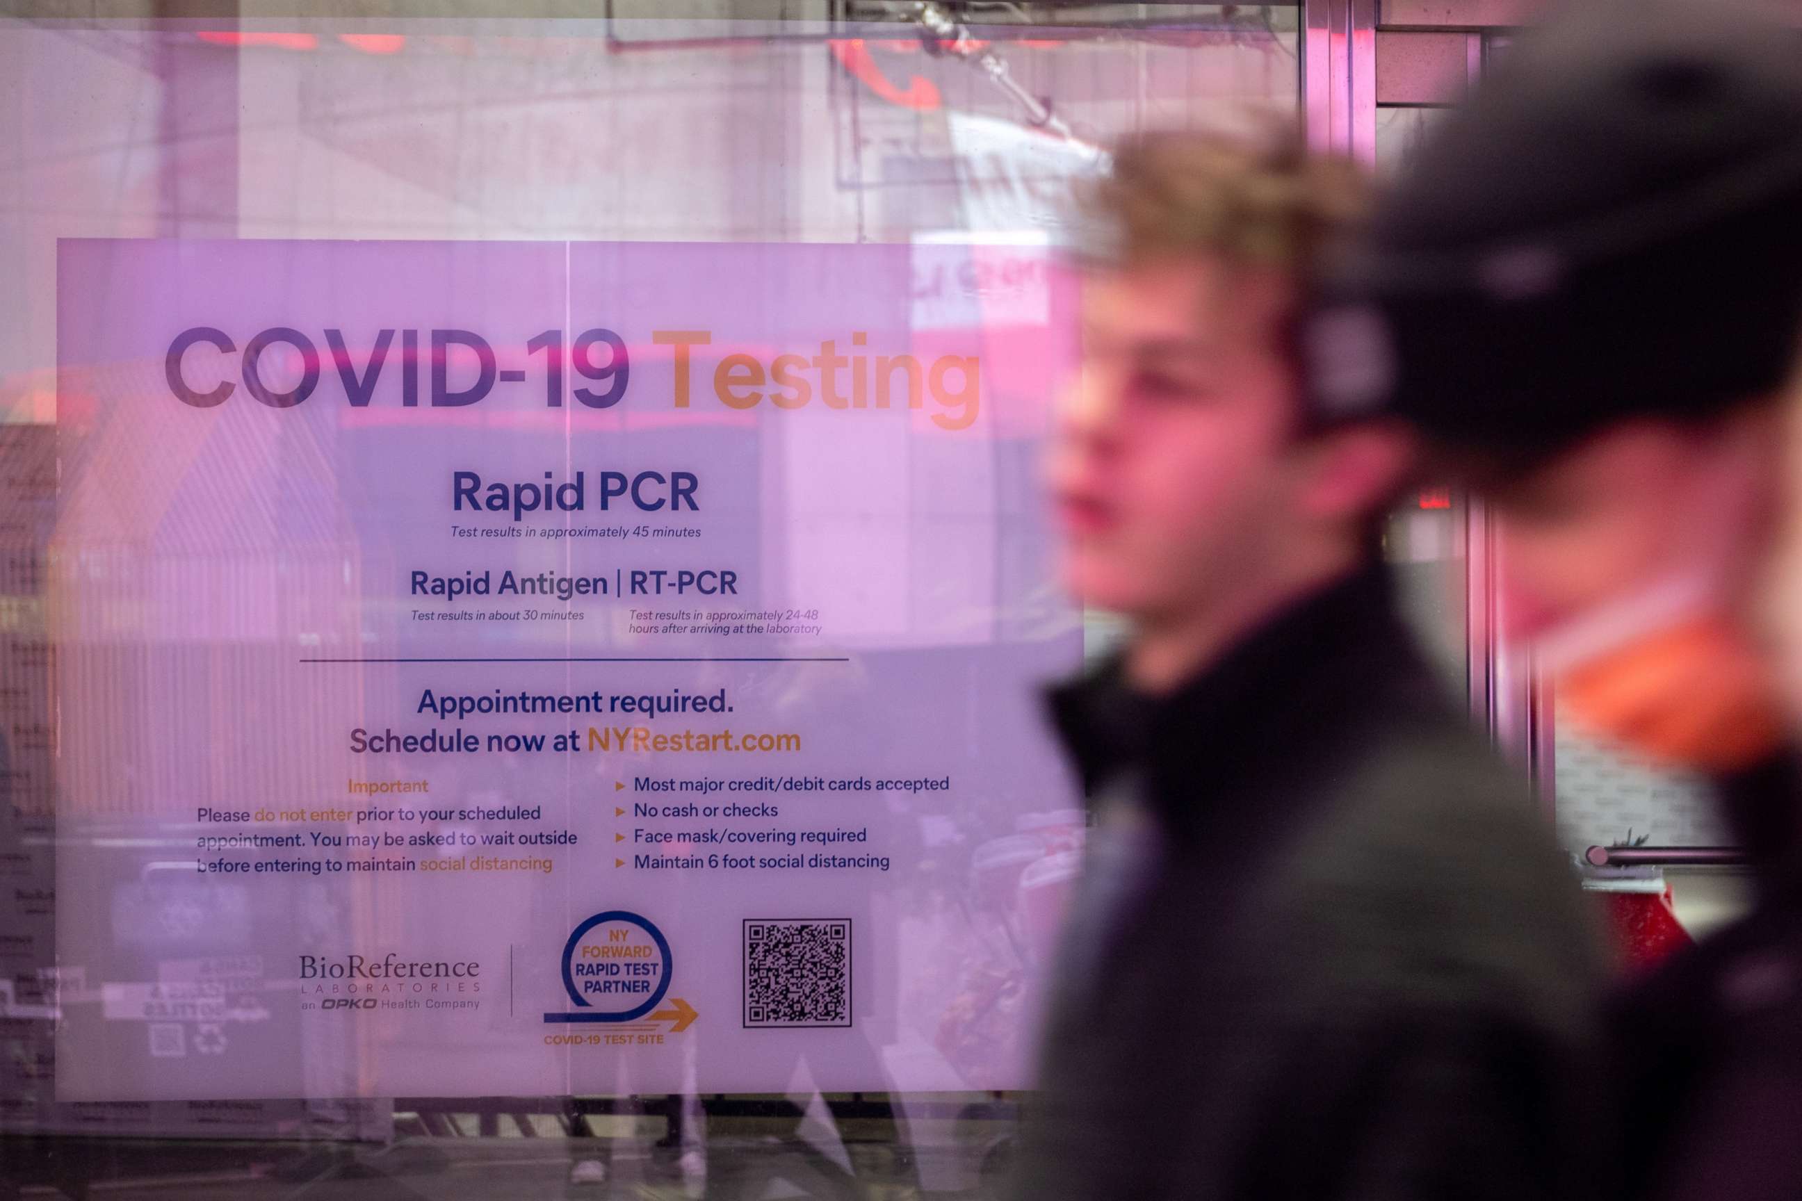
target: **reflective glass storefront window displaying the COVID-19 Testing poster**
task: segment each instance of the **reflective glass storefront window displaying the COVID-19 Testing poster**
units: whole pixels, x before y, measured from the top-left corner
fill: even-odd
[[[1297,16],[750,7],[0,20],[5,1185],[993,1185],[1051,248]]]

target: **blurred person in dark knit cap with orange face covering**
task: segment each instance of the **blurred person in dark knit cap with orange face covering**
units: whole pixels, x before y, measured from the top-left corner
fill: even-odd
[[[1404,416],[1501,517],[1561,711],[1712,772],[1753,917],[1622,1001],[1634,1196],[1802,1197],[1802,790],[1752,600],[1802,331],[1802,34],[1571,5],[1380,205],[1303,322],[1319,420]]]

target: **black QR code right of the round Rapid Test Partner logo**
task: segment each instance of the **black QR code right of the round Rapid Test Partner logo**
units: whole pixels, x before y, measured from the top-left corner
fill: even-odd
[[[746,1026],[851,1025],[851,922],[744,922]]]

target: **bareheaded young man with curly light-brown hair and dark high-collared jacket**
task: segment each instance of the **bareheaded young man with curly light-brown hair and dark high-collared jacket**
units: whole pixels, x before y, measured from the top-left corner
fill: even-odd
[[[1096,196],[1054,456],[1124,614],[1056,717],[1092,805],[1020,1201],[1575,1197],[1577,880],[1397,619],[1398,423],[1305,421],[1294,319],[1359,175],[1148,137]]]

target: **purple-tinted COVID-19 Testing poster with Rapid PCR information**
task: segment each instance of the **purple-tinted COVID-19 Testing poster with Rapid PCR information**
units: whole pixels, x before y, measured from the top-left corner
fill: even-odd
[[[59,1098],[1027,1082],[1079,837],[1045,252],[58,284]]]

